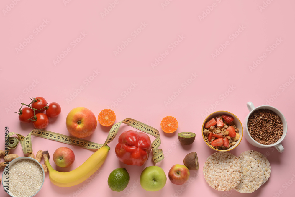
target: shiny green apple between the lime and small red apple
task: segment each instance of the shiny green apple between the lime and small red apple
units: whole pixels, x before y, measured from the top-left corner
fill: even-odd
[[[167,177],[159,166],[146,167],[140,174],[140,185],[146,191],[158,191],[166,184]]]

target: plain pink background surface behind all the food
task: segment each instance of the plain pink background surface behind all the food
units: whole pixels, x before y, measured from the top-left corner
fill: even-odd
[[[244,137],[231,153],[257,150],[271,163],[270,179],[251,196],[292,196],[294,6],[291,0],[2,0],[0,145],[4,146],[5,126],[22,135],[34,129],[20,123],[14,113],[21,102],[30,102],[29,97],[42,96],[61,105],[62,113],[50,120],[46,130],[65,135],[69,135],[65,118],[71,109],[86,107],[97,116],[102,109],[112,108],[117,122],[134,118],[160,131],[165,159],[157,165],[167,178],[172,165],[182,164],[187,153],[196,151],[200,167],[190,171],[189,184],[173,185],[168,179],[162,190],[145,191],[138,185],[140,173],[153,162],[149,159],[141,167],[122,164],[114,153],[115,139],[99,175],[59,188],[46,174],[37,196],[245,196],[215,191],[204,180],[204,162],[214,151],[204,144],[201,125],[206,113],[217,110],[230,111],[243,121],[249,113],[246,103],[252,101],[255,106],[272,105],[285,115],[289,124],[282,143],[285,151],[255,148]],[[115,55],[121,45],[124,49]],[[168,115],[179,123],[169,135],[160,128]],[[122,126],[120,132],[127,129]],[[184,131],[196,133],[191,146],[178,143],[177,133]],[[86,139],[104,143],[108,132],[109,128],[98,125]],[[32,143],[34,152],[42,149],[53,154],[58,147],[72,148],[76,160],[64,171],[78,167],[93,153],[39,137],[33,137]],[[20,146],[13,153],[23,156]],[[126,167],[130,174],[122,192],[107,185],[109,173],[118,167]],[[0,195],[8,196],[2,189]]]

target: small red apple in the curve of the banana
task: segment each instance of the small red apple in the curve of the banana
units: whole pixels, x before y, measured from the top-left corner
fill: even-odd
[[[69,167],[75,161],[75,154],[67,147],[60,147],[53,153],[53,161],[59,167]]]

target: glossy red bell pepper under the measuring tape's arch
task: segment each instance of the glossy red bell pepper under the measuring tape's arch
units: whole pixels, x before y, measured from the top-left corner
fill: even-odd
[[[115,148],[116,156],[124,164],[141,166],[148,160],[152,145],[147,134],[124,131],[118,142]]]

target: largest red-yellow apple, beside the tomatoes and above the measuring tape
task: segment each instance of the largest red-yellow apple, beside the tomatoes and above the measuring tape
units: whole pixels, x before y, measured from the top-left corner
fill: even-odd
[[[77,138],[85,138],[94,133],[97,121],[94,113],[87,108],[72,109],[65,120],[69,133]]]

